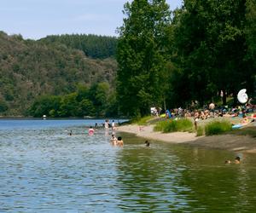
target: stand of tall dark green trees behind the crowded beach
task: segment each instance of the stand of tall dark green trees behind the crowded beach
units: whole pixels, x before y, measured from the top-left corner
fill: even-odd
[[[149,107],[236,105],[240,89],[255,99],[256,1],[165,0],[125,3],[119,27],[117,93],[122,112]]]

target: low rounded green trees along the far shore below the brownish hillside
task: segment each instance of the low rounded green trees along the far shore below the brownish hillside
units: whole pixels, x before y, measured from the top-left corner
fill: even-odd
[[[79,84],[73,93],[67,95],[39,96],[29,109],[28,115],[52,118],[69,118],[84,116],[111,117],[118,116],[115,94],[108,83],[95,83],[88,88]]]

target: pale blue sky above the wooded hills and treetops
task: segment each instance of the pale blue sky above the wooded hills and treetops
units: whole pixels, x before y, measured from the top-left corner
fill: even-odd
[[[8,0],[0,6],[0,31],[38,39],[85,33],[118,36],[127,0]],[[182,0],[166,0],[171,9]]]

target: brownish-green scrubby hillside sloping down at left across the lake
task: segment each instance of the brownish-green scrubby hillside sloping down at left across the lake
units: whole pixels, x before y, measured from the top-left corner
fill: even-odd
[[[93,60],[61,43],[25,40],[0,32],[0,115],[25,115],[40,95],[66,95],[78,85],[107,82],[116,60]]]

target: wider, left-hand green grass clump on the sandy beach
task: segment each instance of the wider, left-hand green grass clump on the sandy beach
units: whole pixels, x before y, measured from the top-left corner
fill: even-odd
[[[193,123],[187,118],[182,118],[178,120],[168,119],[160,121],[154,126],[154,131],[161,131],[164,133],[177,132],[177,131],[192,131]]]

